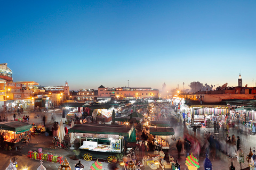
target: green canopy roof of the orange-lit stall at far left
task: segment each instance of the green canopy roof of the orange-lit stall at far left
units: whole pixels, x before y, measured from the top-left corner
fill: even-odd
[[[16,133],[29,131],[30,128],[32,128],[32,125],[25,122],[13,121],[0,123],[0,129],[14,131]]]

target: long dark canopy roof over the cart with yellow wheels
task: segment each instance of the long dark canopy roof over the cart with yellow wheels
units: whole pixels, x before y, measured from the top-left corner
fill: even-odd
[[[97,133],[97,134],[118,134],[129,137],[130,126],[84,123],[75,125],[68,132],[73,133]]]

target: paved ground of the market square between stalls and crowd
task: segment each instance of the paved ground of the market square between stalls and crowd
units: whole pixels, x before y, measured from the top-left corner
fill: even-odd
[[[49,125],[51,127],[52,122],[50,121],[50,115],[52,112],[48,112],[48,113],[33,113],[33,114],[29,114],[30,116],[30,122],[29,123],[35,123],[35,124],[43,124],[43,115],[46,116],[46,126]],[[25,113],[25,115],[27,115],[27,113]],[[34,118],[35,115],[38,115],[39,118]],[[12,114],[5,114],[2,115],[2,117],[10,117],[12,118]],[[56,111],[56,117],[57,117],[57,121],[60,122],[61,120],[61,116],[62,116],[62,112],[61,111]],[[22,116],[20,116],[22,117]],[[9,119],[12,120],[12,119]],[[178,127],[175,128],[175,136],[176,138],[178,137],[182,137],[183,136],[183,127]],[[211,130],[213,132],[213,129],[206,129],[206,130]],[[191,129],[189,129],[189,132],[191,132]],[[200,132],[201,137],[203,136],[203,129]],[[237,136],[237,134],[235,132],[233,132],[233,130],[230,130],[230,135],[235,134]],[[256,146],[256,135],[251,135],[250,137],[247,135],[242,134],[241,135],[241,140],[242,140],[242,150],[244,151],[244,155],[246,157],[247,154],[249,154],[250,151],[250,147],[254,147]],[[78,163],[78,160],[73,160],[74,158],[74,152],[73,150],[65,150],[65,149],[53,149],[53,144],[52,144],[52,137],[46,137],[44,134],[41,135],[34,135],[32,137],[31,142],[29,143],[28,146],[26,146],[24,149],[22,150],[12,150],[12,151],[0,151],[0,157],[1,157],[1,164],[0,164],[0,169],[5,169],[9,163],[10,163],[10,159],[13,158],[14,156],[18,158],[17,162],[18,162],[18,169],[22,169],[22,167],[27,166],[29,169],[36,169],[40,163],[38,160],[32,160],[27,158],[27,152],[29,150],[37,150],[38,148],[43,148],[43,152],[51,152],[53,154],[58,154],[58,155],[63,155],[64,157],[67,157],[67,160],[70,164],[70,166],[72,167],[72,169],[74,169],[74,166],[76,163]],[[175,149],[175,143],[176,141],[171,141],[171,146],[170,146],[170,154],[174,157],[174,160],[177,159],[177,150]],[[252,149],[253,150],[253,149]],[[213,164],[213,169],[219,169],[219,170],[224,170],[224,169],[229,169],[229,166],[231,165],[231,161],[233,161],[233,164],[235,165],[235,167],[237,169],[240,168],[240,165],[237,163],[237,159],[236,158],[229,158],[227,155],[219,153],[220,157],[216,158],[215,160],[212,160],[212,158],[210,157],[212,164]],[[145,153],[145,155],[147,155],[147,153]],[[72,159],[71,159],[72,158]],[[181,156],[181,160],[179,161],[181,169],[188,169],[185,165],[185,155]],[[205,157],[199,157],[199,165],[201,166],[198,169],[204,169],[203,168],[203,161],[204,161]],[[85,160],[83,159],[79,159],[81,160],[81,163],[85,166],[84,169],[90,169],[90,166],[92,165],[93,162],[85,162]],[[58,169],[58,167],[60,166],[60,164],[56,164],[56,163],[47,163],[44,162],[43,165],[47,168],[47,169]],[[242,168],[247,167],[247,163],[242,164]],[[103,168],[102,169],[108,169],[108,163],[103,163]],[[150,169],[148,166],[146,166],[144,169]]]

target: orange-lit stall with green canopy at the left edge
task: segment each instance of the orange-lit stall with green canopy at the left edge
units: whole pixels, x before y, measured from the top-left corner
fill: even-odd
[[[0,123],[0,132],[4,137],[5,145],[11,148],[20,146],[20,142],[31,133],[31,128],[31,124],[19,121]]]

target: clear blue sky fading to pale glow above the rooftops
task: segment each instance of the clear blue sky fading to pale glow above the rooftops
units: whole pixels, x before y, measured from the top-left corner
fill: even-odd
[[[97,89],[256,82],[256,1],[0,1],[13,81]]]

